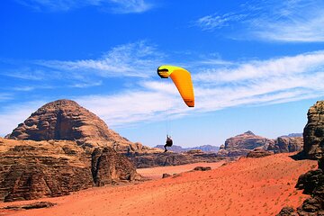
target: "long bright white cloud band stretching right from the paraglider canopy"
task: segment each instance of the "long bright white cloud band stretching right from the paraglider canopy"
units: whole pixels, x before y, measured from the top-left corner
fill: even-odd
[[[274,58],[241,63],[238,67],[208,69],[194,76],[202,82],[251,81],[272,76],[296,76],[302,73],[324,71],[324,51],[305,53],[294,57]]]

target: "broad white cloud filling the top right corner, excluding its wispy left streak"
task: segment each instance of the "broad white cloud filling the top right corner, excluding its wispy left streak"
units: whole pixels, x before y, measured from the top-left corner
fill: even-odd
[[[287,42],[324,41],[324,2],[284,1],[281,7],[252,20],[252,34],[262,40]]]

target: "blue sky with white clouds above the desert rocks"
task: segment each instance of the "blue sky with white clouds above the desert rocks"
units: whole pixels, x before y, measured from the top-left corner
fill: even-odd
[[[148,146],[302,132],[324,95],[323,26],[319,0],[4,0],[0,135],[62,98]],[[191,71],[193,109],[165,64]]]

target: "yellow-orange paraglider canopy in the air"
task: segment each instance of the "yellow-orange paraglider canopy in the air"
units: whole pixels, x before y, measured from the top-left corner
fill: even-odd
[[[157,75],[161,78],[170,76],[181,97],[184,99],[184,103],[189,107],[194,106],[193,81],[186,69],[164,65],[157,68]]]

